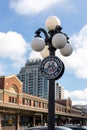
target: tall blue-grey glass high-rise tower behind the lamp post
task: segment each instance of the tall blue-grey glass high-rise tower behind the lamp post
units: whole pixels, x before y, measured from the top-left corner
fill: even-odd
[[[27,60],[17,77],[23,83],[23,92],[48,99],[48,80],[40,72],[41,59]]]

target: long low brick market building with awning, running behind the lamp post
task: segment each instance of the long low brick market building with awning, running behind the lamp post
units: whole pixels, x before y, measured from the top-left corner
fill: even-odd
[[[25,130],[48,121],[48,100],[22,92],[22,82],[15,76],[0,76],[0,130]],[[87,124],[87,113],[74,108],[72,101],[55,102],[55,123]]]

